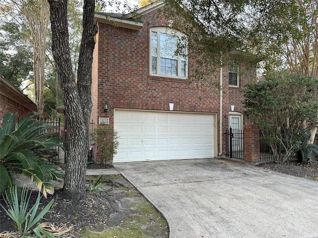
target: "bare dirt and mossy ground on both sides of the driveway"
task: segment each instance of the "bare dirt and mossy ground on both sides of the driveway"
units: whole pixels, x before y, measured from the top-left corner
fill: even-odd
[[[284,165],[266,163],[258,165],[258,167],[318,181],[317,162],[291,161]],[[99,166],[88,165],[88,169],[99,169]],[[92,179],[94,177],[87,177],[87,183]],[[54,195],[49,195],[47,199],[42,197],[42,208],[52,198],[55,200],[53,207],[44,216],[42,222],[73,227],[72,231],[63,237],[94,237],[89,234],[90,232],[97,232],[99,235],[96,237],[107,238],[169,237],[169,228],[165,219],[130,182],[121,175],[104,176],[103,179],[104,191],[99,195],[87,191],[83,201],[69,200],[64,197],[61,190],[56,190]],[[37,196],[37,192],[33,193],[30,204],[35,201]],[[0,203],[4,205],[2,197]],[[0,232],[15,230],[14,223],[1,208]],[[105,230],[110,230],[111,233],[102,236],[101,232]]]

